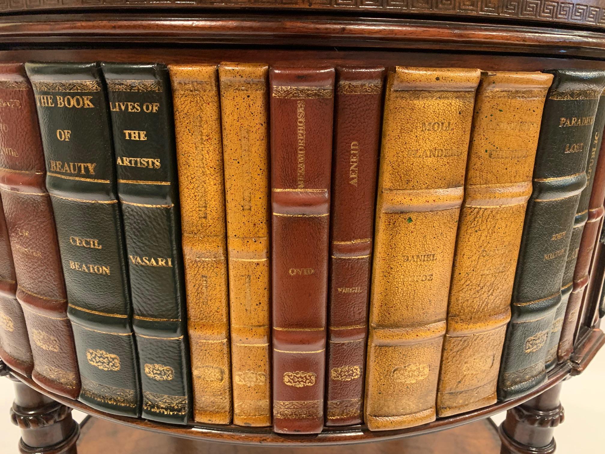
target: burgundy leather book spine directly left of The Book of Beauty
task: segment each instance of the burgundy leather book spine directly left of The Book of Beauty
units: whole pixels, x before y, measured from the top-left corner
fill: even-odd
[[[77,398],[76,363],[33,90],[21,64],[0,65],[0,192],[33,354],[32,378]]]

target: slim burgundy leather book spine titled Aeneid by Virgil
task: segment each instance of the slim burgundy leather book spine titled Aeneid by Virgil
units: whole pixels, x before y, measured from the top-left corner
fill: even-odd
[[[326,426],[360,424],[384,68],[337,68]]]

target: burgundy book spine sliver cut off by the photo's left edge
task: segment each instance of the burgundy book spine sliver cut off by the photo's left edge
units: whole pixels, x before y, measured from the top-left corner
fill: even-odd
[[[0,85],[2,81],[0,81]],[[2,89],[0,88],[0,93]],[[1,95],[0,95],[1,96]],[[4,109],[0,107],[0,128],[4,128]],[[0,133],[0,146],[4,143]],[[13,253],[10,249],[8,229],[0,200],[0,358],[8,367],[25,375],[31,375],[34,360],[23,311],[15,296],[17,280]]]

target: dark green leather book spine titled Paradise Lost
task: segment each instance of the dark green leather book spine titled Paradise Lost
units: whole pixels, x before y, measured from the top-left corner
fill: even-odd
[[[546,96],[511,298],[498,396],[508,400],[546,380],[548,339],[586,186],[586,159],[605,73],[555,70]]]

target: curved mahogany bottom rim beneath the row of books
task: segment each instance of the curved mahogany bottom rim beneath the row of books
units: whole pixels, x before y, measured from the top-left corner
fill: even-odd
[[[325,428],[324,432],[317,435],[280,435],[272,433],[268,428],[253,428],[240,426],[210,426],[201,424],[191,424],[189,426],[176,426],[172,424],[152,423],[146,419],[128,418],[126,416],[109,415],[108,413],[100,412],[99,410],[88,407],[79,401],[74,401],[63,396],[56,395],[50,391],[43,389],[38,384],[34,383],[30,378],[24,377],[16,372],[11,372],[23,383],[27,384],[34,390],[49,396],[53,400],[62,403],[68,407],[88,413],[92,416],[108,419],[119,424],[137,427],[139,429],[151,430],[154,432],[162,432],[167,435],[178,436],[181,438],[204,439],[207,441],[223,442],[231,444],[253,445],[262,443],[265,446],[312,446],[321,444],[322,446],[337,445],[337,444],[356,444],[373,441],[384,441],[391,439],[405,438],[408,436],[423,435],[425,433],[437,432],[439,430],[450,429],[462,424],[471,423],[479,419],[487,418],[496,413],[509,410],[538,394],[546,389],[554,386],[569,375],[571,364],[569,362],[560,364],[555,367],[548,376],[548,381],[543,386],[528,393],[520,398],[499,402],[492,406],[483,409],[474,410],[473,412],[463,413],[462,415],[452,416],[450,418],[438,419],[433,423],[424,424],[422,426],[413,427],[411,429],[390,430],[384,432],[370,432],[365,426],[352,426],[341,428]]]

